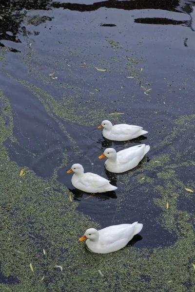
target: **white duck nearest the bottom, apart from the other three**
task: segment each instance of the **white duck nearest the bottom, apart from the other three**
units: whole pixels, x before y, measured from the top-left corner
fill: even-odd
[[[143,224],[134,222],[133,224],[119,224],[109,226],[99,231],[89,228],[79,240],[85,240],[88,248],[99,254],[116,252],[141,231]]]

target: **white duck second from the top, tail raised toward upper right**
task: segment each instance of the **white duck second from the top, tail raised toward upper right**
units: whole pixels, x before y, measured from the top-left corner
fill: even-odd
[[[104,164],[108,171],[121,173],[136,167],[149,150],[150,146],[145,144],[118,152],[114,148],[107,148],[99,158],[108,158]]]

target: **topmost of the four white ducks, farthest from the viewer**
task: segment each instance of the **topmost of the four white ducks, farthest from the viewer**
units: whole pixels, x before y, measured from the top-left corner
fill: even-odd
[[[98,128],[103,128],[102,135],[106,139],[114,141],[127,141],[148,133],[139,126],[127,124],[113,126],[108,120],[104,120]]]

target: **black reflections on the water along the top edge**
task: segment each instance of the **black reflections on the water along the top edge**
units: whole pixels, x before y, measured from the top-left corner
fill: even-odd
[[[139,10],[139,9],[161,9],[165,11],[172,11],[178,13],[186,13],[190,16],[190,20],[178,21],[169,18],[137,18],[137,23],[148,23],[148,24],[173,24],[173,25],[186,25],[193,31],[193,20],[191,13],[193,12],[193,5],[195,1],[179,1],[179,0],[162,0],[162,1],[151,1],[151,0],[134,0],[134,1],[100,1],[93,4],[79,4],[79,3],[61,3],[52,0],[2,0],[0,1],[0,40],[10,40],[16,43],[20,43],[19,35],[28,36],[32,35],[32,32],[28,31],[25,26],[21,23],[23,18],[26,17],[28,10],[45,10],[48,11],[52,8],[63,8],[72,11],[90,12],[98,10],[101,7],[115,8],[123,10]],[[52,18],[46,16],[38,16],[36,18],[29,18],[29,23],[38,25],[45,21],[52,20]],[[103,23],[100,26],[115,27],[116,24]],[[34,31],[34,35],[39,35],[39,32]],[[0,41],[0,46],[4,44]],[[16,49],[10,48],[11,52],[20,52]]]

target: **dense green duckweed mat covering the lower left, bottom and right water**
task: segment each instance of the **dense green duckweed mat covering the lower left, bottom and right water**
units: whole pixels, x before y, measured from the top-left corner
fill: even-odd
[[[195,191],[195,185],[189,181],[186,186],[177,176],[177,169],[194,165],[182,161],[179,149],[185,145],[185,133],[193,130],[195,116],[181,116],[161,142],[171,144],[179,137],[178,149],[172,149],[173,155],[177,153],[174,162],[171,155],[143,162],[143,169],[155,172],[157,180],[142,174],[140,168],[136,176],[130,172],[122,180],[125,183],[132,176],[131,183],[136,183],[137,188],[153,190],[154,202],[161,208],[156,220],[175,234],[175,243],[142,249],[127,246],[99,255],[78,242],[89,226],[100,226],[76,210],[78,203],[70,200],[69,190],[55,176],[43,179],[25,165],[19,167],[10,161],[3,142],[17,141],[13,136],[12,109],[2,91],[0,108],[1,292],[195,291],[195,219],[191,213],[178,209],[179,198],[193,200],[194,193],[185,188]],[[191,146],[185,150],[192,151]],[[125,192],[129,188],[127,185]],[[118,200],[118,209],[122,203]]]

